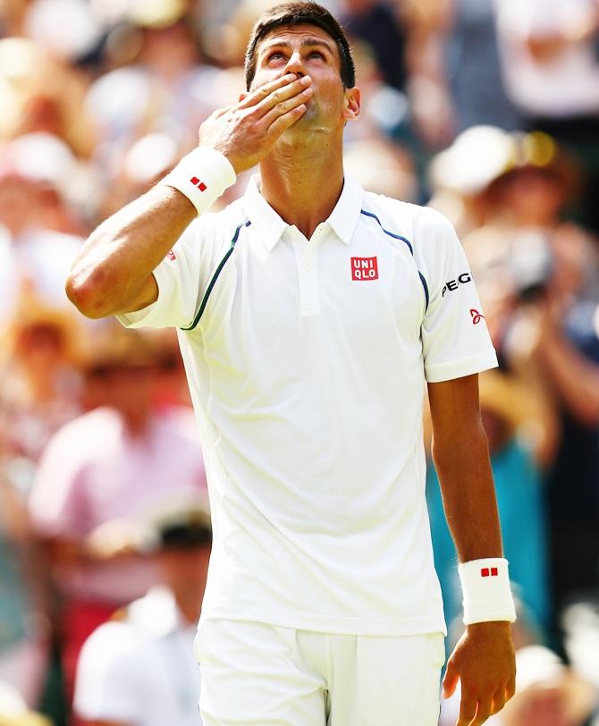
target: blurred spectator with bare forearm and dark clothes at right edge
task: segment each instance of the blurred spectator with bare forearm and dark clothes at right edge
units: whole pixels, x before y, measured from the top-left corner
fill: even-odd
[[[563,437],[550,472],[553,596],[558,612],[599,591],[599,308],[550,301],[536,356],[559,401]],[[589,592],[590,591],[590,592]]]

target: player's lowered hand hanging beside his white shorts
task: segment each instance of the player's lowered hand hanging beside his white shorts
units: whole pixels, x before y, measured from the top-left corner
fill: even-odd
[[[468,625],[447,662],[443,697],[461,681],[456,726],[480,726],[501,711],[516,689],[516,658],[509,622]]]

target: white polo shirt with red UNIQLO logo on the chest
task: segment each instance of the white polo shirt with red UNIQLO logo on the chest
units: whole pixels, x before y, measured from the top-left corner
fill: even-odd
[[[308,241],[253,179],[154,274],[158,300],[121,319],[180,328],[213,512],[202,618],[444,630],[425,382],[496,366],[447,220],[346,178]]]

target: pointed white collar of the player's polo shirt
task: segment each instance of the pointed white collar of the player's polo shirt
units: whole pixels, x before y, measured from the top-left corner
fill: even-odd
[[[258,190],[259,175],[254,174],[243,197],[244,207],[252,227],[270,252],[290,226],[271,207]],[[343,189],[333,212],[326,220],[333,232],[349,245],[362,208],[363,190],[359,184],[345,174]]]

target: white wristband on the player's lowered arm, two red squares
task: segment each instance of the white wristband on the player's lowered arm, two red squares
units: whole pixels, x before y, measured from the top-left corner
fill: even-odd
[[[464,624],[516,620],[508,561],[502,557],[462,562],[458,566],[464,596]]]

